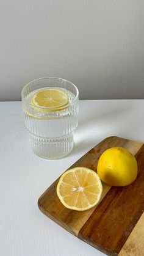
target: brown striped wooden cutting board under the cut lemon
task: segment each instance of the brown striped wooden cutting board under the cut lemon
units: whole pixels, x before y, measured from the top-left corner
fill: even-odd
[[[134,183],[125,187],[110,187],[103,183],[103,196],[96,207],[74,211],[65,208],[57,197],[58,178],[41,195],[38,207],[68,232],[107,255],[143,256],[144,144],[115,136],[107,137],[70,168],[85,166],[96,170],[101,153],[115,146],[127,148],[135,155],[139,174]]]

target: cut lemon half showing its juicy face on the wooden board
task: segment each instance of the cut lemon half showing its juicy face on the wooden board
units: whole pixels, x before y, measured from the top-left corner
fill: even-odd
[[[101,199],[102,192],[98,174],[86,167],[67,170],[57,184],[57,196],[62,204],[77,211],[94,207]]]

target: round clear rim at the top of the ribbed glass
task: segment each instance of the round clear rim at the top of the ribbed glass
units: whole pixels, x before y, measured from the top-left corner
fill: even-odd
[[[31,106],[33,109],[40,109],[41,111],[59,111],[59,110],[63,110],[63,109],[65,109],[65,108],[68,108],[68,106],[71,106],[71,104],[73,104],[76,100],[77,100],[77,98],[79,97],[79,90],[77,89],[77,87],[75,86],[75,84],[73,84],[73,82],[71,82],[71,81],[69,81],[69,80],[67,80],[67,79],[63,79],[63,78],[58,78],[58,77],[55,77],[55,76],[46,76],[46,77],[43,77],[43,78],[37,78],[37,79],[34,79],[34,80],[32,80],[32,81],[30,81],[30,82],[28,82],[24,87],[23,87],[23,89],[21,90],[21,98],[22,98],[22,101],[24,100],[24,101],[27,101],[26,100],[26,97],[24,97],[24,90],[32,83],[32,82],[36,82],[36,81],[40,81],[40,80],[45,80],[45,79],[56,79],[56,80],[61,80],[61,81],[65,81],[65,82],[68,82],[68,84],[71,84],[71,86],[73,86],[74,87],[74,89],[76,89],[76,96],[74,97],[74,100],[71,102],[71,103],[69,103],[68,102],[68,104],[66,104],[66,105],[64,105],[64,106],[60,106],[60,107],[56,107],[56,108],[54,108],[54,107],[40,107],[40,106],[35,106],[34,104],[32,104],[32,103],[29,103],[29,102],[27,102],[27,104],[29,104],[29,106]],[[52,86],[51,86],[52,87]],[[52,110],[51,110],[52,109]]]

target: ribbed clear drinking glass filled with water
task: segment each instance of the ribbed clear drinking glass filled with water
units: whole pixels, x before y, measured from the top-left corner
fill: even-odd
[[[54,89],[67,95],[67,104],[53,108],[37,106],[32,100],[38,91]],[[29,131],[32,151],[46,159],[68,155],[74,145],[78,125],[79,91],[62,78],[40,78],[24,86],[22,92],[24,123]],[[43,98],[42,98],[43,100]]]

